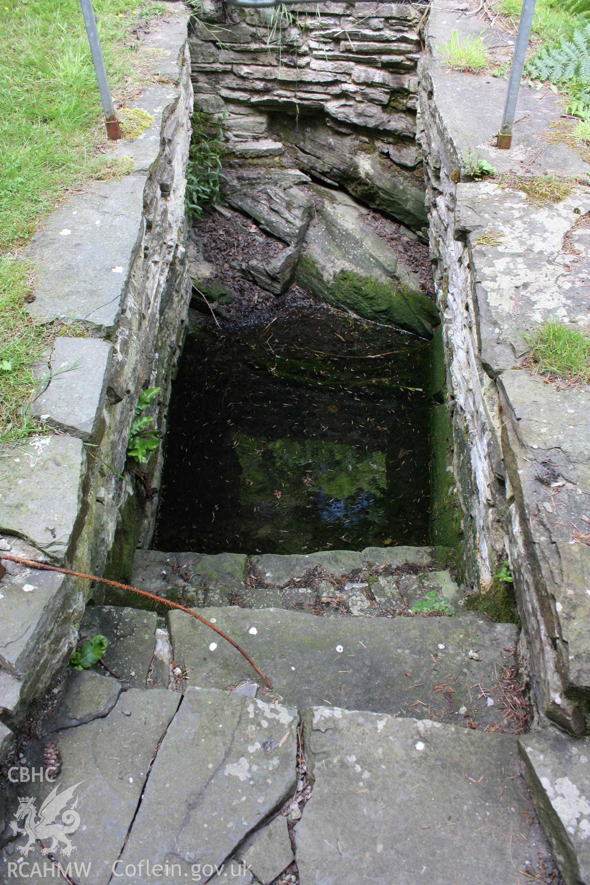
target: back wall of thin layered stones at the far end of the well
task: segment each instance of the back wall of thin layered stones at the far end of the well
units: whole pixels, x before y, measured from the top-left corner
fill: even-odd
[[[203,0],[191,23],[195,107],[221,120],[224,165],[296,168],[427,236],[415,142],[421,4],[277,10]]]

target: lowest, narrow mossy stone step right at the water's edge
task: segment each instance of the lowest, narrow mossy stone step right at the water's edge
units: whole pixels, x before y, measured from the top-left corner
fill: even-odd
[[[409,615],[434,591],[443,612],[459,613],[462,594],[445,563],[440,547],[367,547],[250,559],[137,550],[132,583],[190,606],[237,604],[333,616]]]

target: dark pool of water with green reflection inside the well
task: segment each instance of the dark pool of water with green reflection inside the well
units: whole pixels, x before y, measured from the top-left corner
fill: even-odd
[[[321,309],[188,335],[154,546],[427,543],[429,358],[418,339]]]

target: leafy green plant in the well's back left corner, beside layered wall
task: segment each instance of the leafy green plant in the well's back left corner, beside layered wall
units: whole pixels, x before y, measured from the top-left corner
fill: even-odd
[[[223,174],[223,131],[221,120],[195,110],[193,137],[187,163],[187,209],[194,219],[203,216],[203,208],[217,203]]]

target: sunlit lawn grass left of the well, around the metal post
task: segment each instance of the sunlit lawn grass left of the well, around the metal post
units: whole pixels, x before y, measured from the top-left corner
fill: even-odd
[[[139,91],[142,53],[132,27],[164,12],[144,0],[95,0],[115,98]],[[19,250],[68,190],[118,178],[128,158],[103,156],[106,142],[96,75],[78,0],[0,3],[0,443],[34,432],[26,404],[32,364],[54,334],[27,315],[31,269]]]

